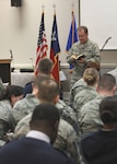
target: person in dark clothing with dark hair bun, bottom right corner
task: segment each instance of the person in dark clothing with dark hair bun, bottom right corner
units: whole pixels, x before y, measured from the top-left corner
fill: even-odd
[[[100,104],[103,127],[81,140],[81,152],[87,164],[117,163],[117,98],[105,97]]]

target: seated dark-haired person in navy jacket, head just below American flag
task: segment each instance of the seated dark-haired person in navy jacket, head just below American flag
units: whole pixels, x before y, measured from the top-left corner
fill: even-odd
[[[38,63],[38,74],[47,74],[51,77],[51,70],[52,70],[52,61],[49,58],[43,58],[39,60]],[[24,87],[24,96],[27,93],[32,93],[33,91],[33,82],[30,82]]]

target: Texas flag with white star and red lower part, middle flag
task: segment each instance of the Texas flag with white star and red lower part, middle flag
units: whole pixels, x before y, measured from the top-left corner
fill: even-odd
[[[51,32],[50,59],[54,62],[52,77],[57,82],[59,82],[59,52],[60,52],[60,46],[58,39],[57,20],[55,14],[54,23],[52,23],[52,32]]]

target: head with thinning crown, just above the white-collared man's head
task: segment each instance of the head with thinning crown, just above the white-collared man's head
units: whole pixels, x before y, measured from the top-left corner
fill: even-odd
[[[40,84],[39,84],[39,95],[38,97],[40,99],[44,99],[44,101],[47,101],[47,102],[52,102],[54,98],[59,95],[59,85],[58,83],[50,79],[50,80],[46,80],[46,81],[43,81]]]

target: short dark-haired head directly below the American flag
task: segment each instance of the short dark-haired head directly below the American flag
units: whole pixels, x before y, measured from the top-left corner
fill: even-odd
[[[38,71],[44,74],[50,74],[52,69],[52,61],[49,58],[43,58],[38,63]]]

